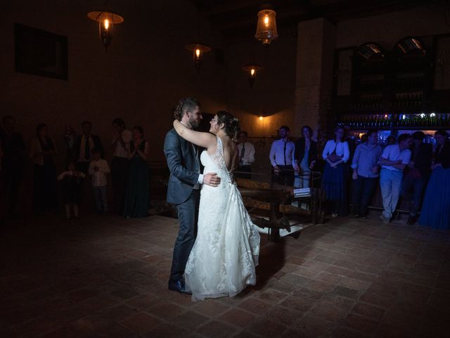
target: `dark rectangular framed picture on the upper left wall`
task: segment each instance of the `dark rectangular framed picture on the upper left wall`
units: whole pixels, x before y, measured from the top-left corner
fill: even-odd
[[[15,71],[68,80],[68,38],[14,24]]]

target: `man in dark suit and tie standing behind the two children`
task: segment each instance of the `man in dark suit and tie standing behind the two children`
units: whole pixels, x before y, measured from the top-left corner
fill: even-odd
[[[82,132],[83,134],[77,136],[75,139],[75,158],[77,160],[77,170],[84,174],[87,174],[89,169],[89,163],[91,163],[92,149],[98,149],[101,158],[105,157],[105,151],[101,144],[100,137],[91,134],[92,123],[89,121],[83,121]]]

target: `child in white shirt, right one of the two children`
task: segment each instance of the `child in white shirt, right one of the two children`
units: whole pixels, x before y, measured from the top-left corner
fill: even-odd
[[[110,173],[108,162],[103,160],[100,151],[96,148],[92,149],[91,164],[89,165],[89,175],[92,178],[92,188],[94,190],[94,200],[96,202],[96,210],[98,213],[108,212],[108,201],[106,199],[106,174]]]

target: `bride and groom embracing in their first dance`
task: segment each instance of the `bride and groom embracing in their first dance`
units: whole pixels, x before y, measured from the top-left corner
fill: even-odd
[[[174,118],[164,144],[167,201],[176,205],[180,223],[169,289],[193,300],[235,296],[256,284],[259,256],[259,233],[233,181],[238,120],[219,111],[210,132],[196,132],[202,113],[191,98],[179,102]]]

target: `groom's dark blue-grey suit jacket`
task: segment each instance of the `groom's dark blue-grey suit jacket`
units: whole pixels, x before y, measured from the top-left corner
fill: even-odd
[[[170,170],[167,202],[181,204],[192,193],[200,175],[200,161],[196,161],[193,144],[169,130],[164,142],[164,154]]]

